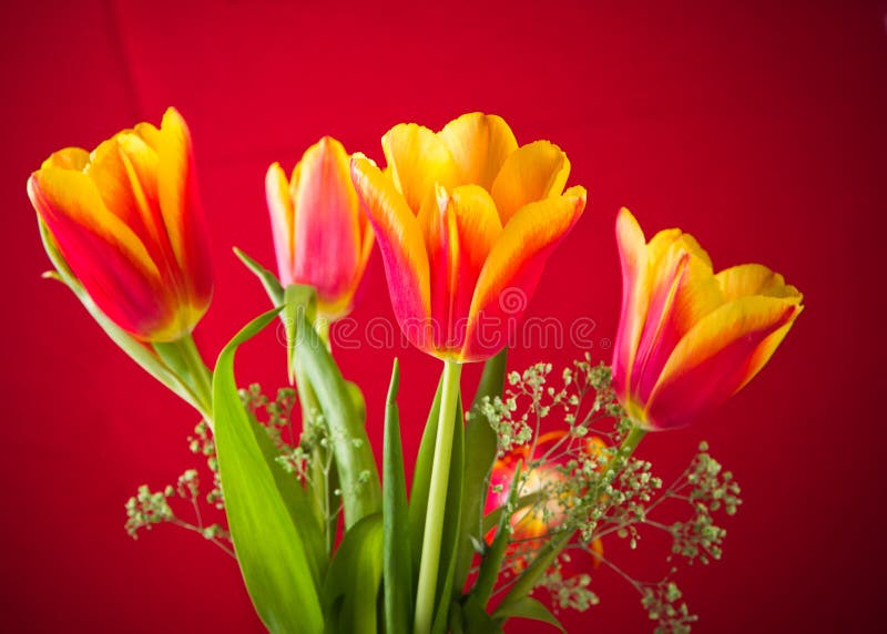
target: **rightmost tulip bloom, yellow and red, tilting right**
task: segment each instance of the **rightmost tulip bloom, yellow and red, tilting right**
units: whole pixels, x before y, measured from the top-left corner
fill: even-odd
[[[622,316],[613,387],[648,430],[686,425],[741,390],[764,367],[802,310],[803,296],[759,264],[715,274],[680,229],[645,242],[634,216],[616,221]]]

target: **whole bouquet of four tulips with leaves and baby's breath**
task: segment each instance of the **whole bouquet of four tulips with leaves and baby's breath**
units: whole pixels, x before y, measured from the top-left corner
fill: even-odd
[[[488,633],[518,617],[560,627],[558,611],[597,602],[598,566],[622,572],[606,541],[634,548],[648,526],[671,535],[672,561],[717,559],[716,515],[741,502],[730,472],[703,444],[666,487],[633,452],[646,432],[686,425],[742,389],[801,313],[797,289],[756,264],[715,274],[692,236],[667,229],[648,242],[622,209],[612,366],[587,357],[562,372],[544,362],[509,372],[527,300],[585,208],[585,190],[567,187],[570,162],[548,141],[520,145],[501,117],[481,113],[439,132],[399,124],[381,145],[385,168],[328,136],[289,178],[268,168],[277,274],[236,253],[271,308],[257,308],[211,367],[192,338],[213,276],[179,112],[92,152],[61,150],[29,178],[47,276],[201,417],[192,449],[208,460],[212,491],[201,492],[196,470],[161,491],[143,487],[126,504],[130,532],[169,522],[220,545],[281,633]],[[442,364],[409,479],[397,360],[380,468],[360,389],[334,360],[330,326],[351,310],[374,243],[402,335]],[[269,398],[238,386],[234,360],[275,323],[295,387]],[[471,401],[460,380],[469,362],[486,364]],[[208,501],[224,519],[186,522],[179,498]],[[686,514],[655,520],[665,500]],[[674,570],[655,583],[623,573],[659,631],[694,620]]]

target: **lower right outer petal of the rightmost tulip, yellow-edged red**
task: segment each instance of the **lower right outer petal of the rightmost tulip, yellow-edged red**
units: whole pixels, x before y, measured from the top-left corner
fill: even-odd
[[[645,406],[654,429],[684,425],[736,393],[767,362],[801,297],[742,297],[704,317],[681,340]]]

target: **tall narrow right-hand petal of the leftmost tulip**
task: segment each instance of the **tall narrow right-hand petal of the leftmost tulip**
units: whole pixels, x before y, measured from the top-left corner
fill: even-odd
[[[150,135],[149,135],[150,137]],[[174,108],[163,114],[157,143],[157,200],[166,235],[195,314],[213,293],[208,241],[197,194],[191,132]]]

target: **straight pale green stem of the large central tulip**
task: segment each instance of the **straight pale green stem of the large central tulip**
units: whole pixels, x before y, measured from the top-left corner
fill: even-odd
[[[449,483],[450,458],[452,456],[452,432],[455,425],[461,425],[461,421],[456,420],[461,372],[462,366],[458,361],[443,361],[443,387],[440,393],[440,413],[437,421],[437,449],[435,450],[431,482],[428,489],[428,509],[425,515],[414,634],[428,634],[431,631],[434,620],[435,593],[437,590],[438,565],[440,564],[440,541],[443,532],[447,484]]]

